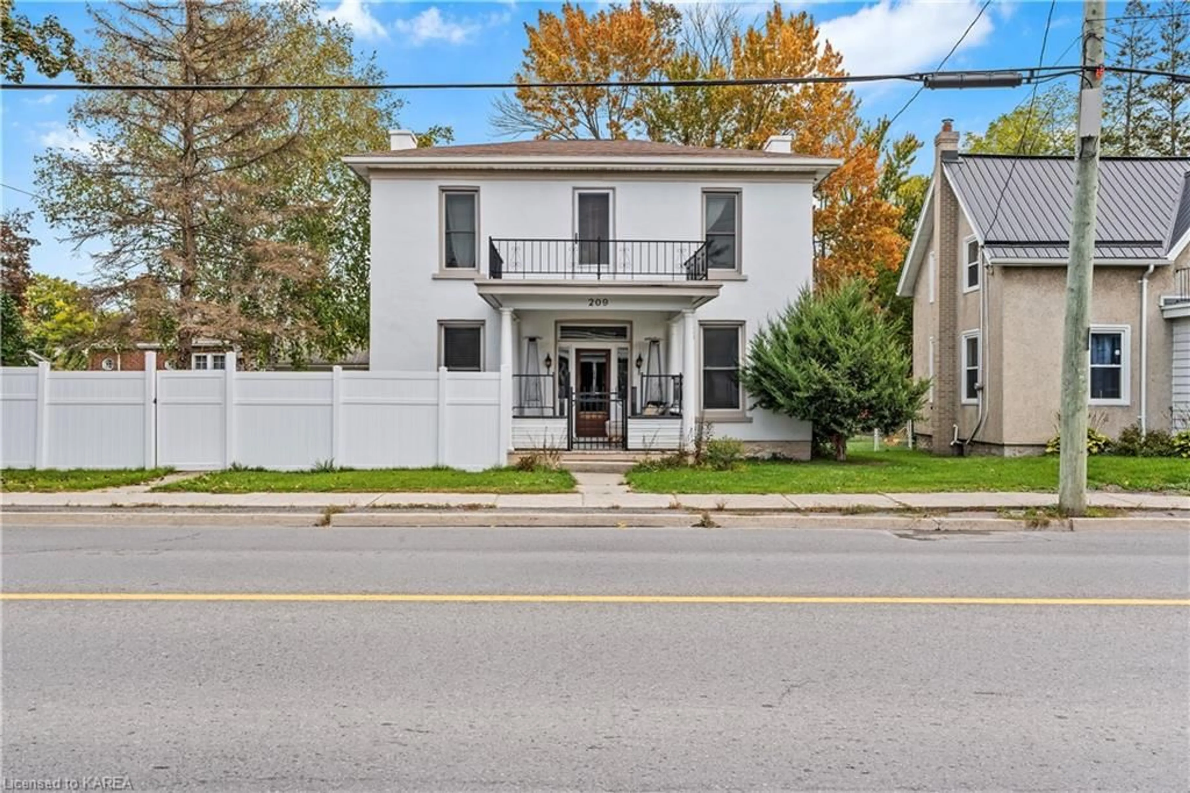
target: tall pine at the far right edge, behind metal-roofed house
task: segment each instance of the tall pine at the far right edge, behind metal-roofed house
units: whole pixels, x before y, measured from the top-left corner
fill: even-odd
[[[1190,10],[1185,0],[1165,0],[1150,6],[1160,23],[1157,33],[1158,71],[1190,71]],[[1190,152],[1190,85],[1154,77],[1150,89],[1154,108],[1150,148],[1153,154],[1179,156]]]

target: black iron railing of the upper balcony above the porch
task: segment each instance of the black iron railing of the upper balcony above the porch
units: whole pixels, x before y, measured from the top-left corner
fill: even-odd
[[[704,239],[488,239],[488,277],[706,281]]]

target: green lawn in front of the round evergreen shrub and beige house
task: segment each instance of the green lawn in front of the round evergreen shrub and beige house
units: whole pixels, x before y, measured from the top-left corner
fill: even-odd
[[[643,493],[927,493],[945,491],[1058,489],[1058,458],[935,457],[923,451],[859,451],[848,460],[747,462],[738,470],[691,468],[635,469],[627,474]],[[1088,483],[1095,489],[1190,492],[1190,461],[1177,457],[1089,460]]]

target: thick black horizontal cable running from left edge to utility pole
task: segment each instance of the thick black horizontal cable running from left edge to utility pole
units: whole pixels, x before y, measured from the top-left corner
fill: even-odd
[[[1078,67],[1041,67],[1021,69],[969,69],[964,71],[902,71],[866,75],[801,75],[796,77],[725,77],[712,80],[574,80],[562,82],[381,82],[381,83],[95,83],[95,82],[25,82],[2,83],[2,90],[505,90],[509,88],[713,88],[731,86],[801,86],[814,83],[882,82],[903,80],[920,82],[927,75],[998,74],[1027,71],[1069,71]]]

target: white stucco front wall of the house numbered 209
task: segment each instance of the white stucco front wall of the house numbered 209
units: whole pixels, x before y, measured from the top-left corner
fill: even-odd
[[[810,281],[813,186],[808,176],[800,180],[710,176],[374,174],[371,368],[434,368],[441,319],[483,320],[484,366],[489,370],[499,368],[499,314],[480,299],[470,280],[434,277],[440,256],[439,191],[445,187],[480,189],[481,273],[487,271],[488,237],[570,238],[575,188],[614,191],[613,235],[621,239],[701,239],[702,192],[739,191],[743,280],[726,281],[719,296],[697,310],[697,318],[743,321],[751,338],[768,317],[778,313]],[[597,288],[593,285],[593,295]],[[628,317],[608,311],[568,317],[583,318]],[[549,321],[552,324],[553,319]],[[525,329],[534,321],[531,318],[522,321],[521,336],[530,332]],[[644,338],[643,329],[635,332]],[[549,338],[547,332],[541,335]],[[656,335],[668,338],[660,327]],[[801,422],[759,411],[750,418],[750,422],[721,423],[719,433],[746,441],[809,437],[809,426]]]

